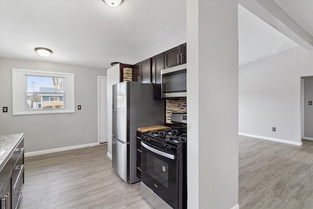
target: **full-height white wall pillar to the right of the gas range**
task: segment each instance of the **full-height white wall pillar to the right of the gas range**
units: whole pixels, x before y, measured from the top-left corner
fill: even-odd
[[[237,6],[187,0],[190,209],[238,209]]]

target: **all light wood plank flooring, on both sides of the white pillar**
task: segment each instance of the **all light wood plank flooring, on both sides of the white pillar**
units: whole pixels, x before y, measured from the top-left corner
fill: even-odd
[[[19,209],[151,209],[140,184],[121,180],[107,149],[25,158]],[[302,146],[239,136],[240,209],[313,209],[313,141]]]

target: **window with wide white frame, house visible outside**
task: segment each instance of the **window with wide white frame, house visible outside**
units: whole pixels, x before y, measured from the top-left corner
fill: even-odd
[[[74,113],[74,74],[12,69],[13,115]]]

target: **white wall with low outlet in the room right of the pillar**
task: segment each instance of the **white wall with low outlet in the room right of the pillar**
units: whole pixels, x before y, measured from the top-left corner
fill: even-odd
[[[301,46],[241,66],[239,132],[300,145],[301,76],[310,75],[313,51]]]

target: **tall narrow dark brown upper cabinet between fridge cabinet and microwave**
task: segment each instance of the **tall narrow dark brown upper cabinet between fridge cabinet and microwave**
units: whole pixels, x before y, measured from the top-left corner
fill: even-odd
[[[164,52],[152,57],[152,82],[155,86],[155,99],[161,99],[161,70],[164,69]]]

